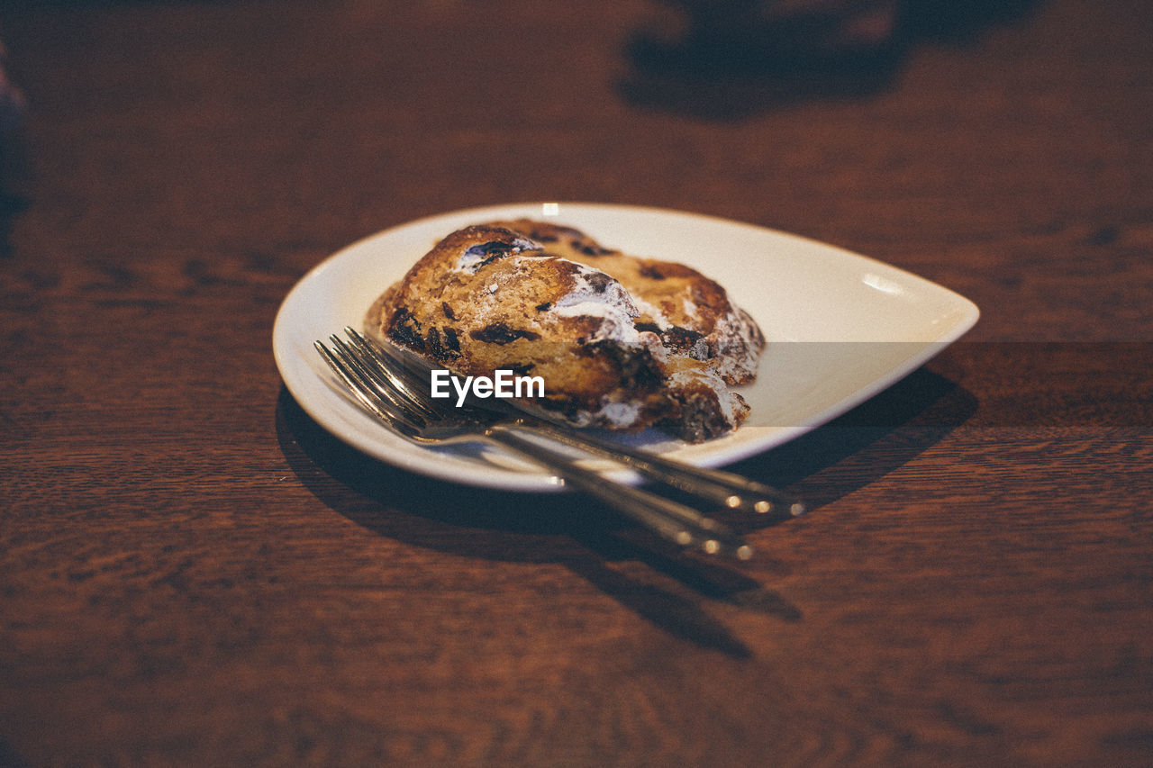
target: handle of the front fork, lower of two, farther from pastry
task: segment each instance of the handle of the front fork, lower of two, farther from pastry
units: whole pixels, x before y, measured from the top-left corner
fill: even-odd
[[[488,430],[484,437],[545,467],[572,488],[603,502],[675,544],[695,545],[710,555],[724,554],[743,560],[753,555],[752,548],[728,526],[689,506],[609,481],[600,473],[575,465],[568,457],[511,431]]]

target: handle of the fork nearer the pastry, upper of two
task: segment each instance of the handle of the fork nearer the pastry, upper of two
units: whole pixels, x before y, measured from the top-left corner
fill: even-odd
[[[640,451],[586,432],[567,430],[530,415],[518,419],[511,426],[544,435],[603,459],[624,464],[650,480],[729,509],[762,514],[771,512],[775,517],[797,517],[805,512],[805,505],[796,497],[730,472],[673,461],[656,453]]]

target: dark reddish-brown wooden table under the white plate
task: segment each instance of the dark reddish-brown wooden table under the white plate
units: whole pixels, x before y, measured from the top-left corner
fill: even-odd
[[[1148,5],[977,10],[859,77],[640,67],[669,13],[0,10],[28,97],[0,763],[1153,763]],[[740,565],[576,496],[407,474],[303,414],[270,334],[307,270],[533,199],[799,233],[982,318],[737,465],[813,507],[746,526]]]

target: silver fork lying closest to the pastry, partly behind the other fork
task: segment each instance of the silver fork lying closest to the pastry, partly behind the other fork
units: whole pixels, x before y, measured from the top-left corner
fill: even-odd
[[[345,333],[364,356],[378,359],[384,363],[391,370],[390,375],[399,379],[397,385],[405,389],[409,397],[423,400],[432,407],[439,407],[434,405],[428,393],[431,366],[425,360],[399,347],[378,344],[352,327],[345,327]],[[394,364],[389,364],[390,361]],[[800,499],[731,472],[706,469],[675,461],[657,453],[602,439],[586,431],[566,429],[532,413],[514,411],[497,402],[481,405],[469,400],[462,407],[470,409],[477,421],[544,435],[602,459],[628,466],[649,480],[671,485],[709,504],[781,518],[798,517],[805,512],[805,504]]]

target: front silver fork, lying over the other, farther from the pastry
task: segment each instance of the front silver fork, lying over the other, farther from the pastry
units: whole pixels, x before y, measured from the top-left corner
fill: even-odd
[[[491,423],[470,408],[444,408],[405,384],[387,357],[378,356],[351,329],[346,342],[331,337],[332,348],[315,346],[348,391],[395,434],[417,445],[485,441],[537,464],[571,487],[593,496],[649,530],[680,547],[696,547],[709,555],[748,559],[753,549],[728,526],[672,499],[640,488],[611,482],[600,473],[578,466],[568,457],[511,431],[514,426]]]

